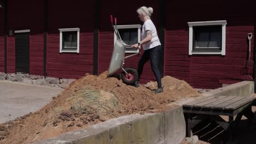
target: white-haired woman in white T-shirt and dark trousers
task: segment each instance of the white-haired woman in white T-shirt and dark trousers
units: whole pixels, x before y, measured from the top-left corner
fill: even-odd
[[[156,28],[150,16],[153,14],[153,8],[141,7],[137,10],[138,17],[141,21],[144,22],[142,26],[141,38],[138,44],[132,45],[132,47],[137,48],[139,45],[143,46],[144,53],[141,59],[138,62],[138,75],[140,78],[144,64],[150,59],[151,68],[155,75],[156,81],[158,81],[158,89],[155,90],[155,93],[163,92],[161,84],[161,74],[159,70],[159,60],[160,60],[160,50],[161,43],[156,33]],[[139,87],[139,79],[135,82],[135,87]]]

